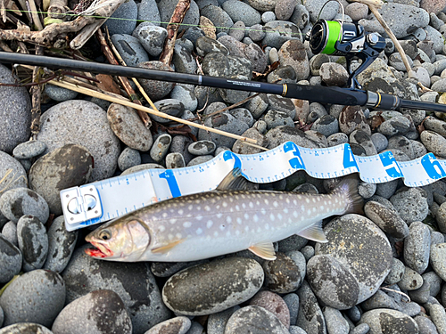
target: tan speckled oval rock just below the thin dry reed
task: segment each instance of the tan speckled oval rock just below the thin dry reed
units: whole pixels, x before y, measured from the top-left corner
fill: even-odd
[[[153,144],[150,129],[145,127],[136,110],[111,103],[107,110],[111,130],[122,143],[138,151],[149,151]]]

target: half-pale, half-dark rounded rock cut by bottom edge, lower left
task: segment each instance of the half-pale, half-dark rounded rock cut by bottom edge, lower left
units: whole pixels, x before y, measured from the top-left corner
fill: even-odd
[[[57,315],[54,334],[131,334],[132,322],[120,296],[100,289],[78,297]]]

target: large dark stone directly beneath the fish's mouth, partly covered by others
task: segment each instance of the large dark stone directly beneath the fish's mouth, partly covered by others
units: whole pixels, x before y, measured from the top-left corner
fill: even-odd
[[[65,303],[98,289],[112,289],[122,301],[132,321],[133,332],[143,334],[169,319],[161,293],[148,264],[97,261],[77,248],[62,272],[67,287]],[[135,289],[137,287],[137,289]]]

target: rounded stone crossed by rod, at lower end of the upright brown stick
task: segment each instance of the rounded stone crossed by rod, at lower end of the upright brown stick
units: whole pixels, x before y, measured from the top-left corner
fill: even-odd
[[[192,0],[194,1],[194,0]],[[138,61],[137,67],[143,69],[158,69],[158,70],[168,70],[169,72],[173,72],[174,70],[170,68],[170,66],[164,64],[161,61]],[[173,87],[174,83],[170,83],[167,81],[157,81],[157,80],[149,80],[149,79],[140,79],[139,81],[141,86],[144,87],[145,93],[154,101],[160,100],[163,97],[169,95]]]

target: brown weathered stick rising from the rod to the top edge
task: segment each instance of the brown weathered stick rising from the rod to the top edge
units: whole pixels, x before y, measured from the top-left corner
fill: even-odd
[[[183,22],[186,12],[189,10],[191,5],[190,0],[178,0],[177,7],[173,11],[172,17],[170,18],[169,25],[167,26],[168,36],[164,42],[164,49],[160,55],[160,61],[166,65],[170,65],[172,61],[173,51],[175,49],[175,41],[177,40],[179,25]]]

